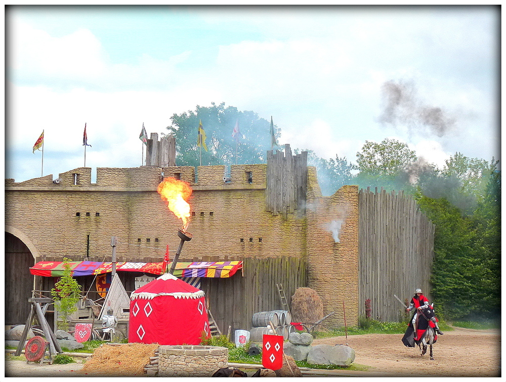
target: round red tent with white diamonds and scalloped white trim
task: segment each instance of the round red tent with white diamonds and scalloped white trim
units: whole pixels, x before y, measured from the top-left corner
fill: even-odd
[[[130,296],[129,341],[199,345],[210,335],[204,292],[165,273]]]

